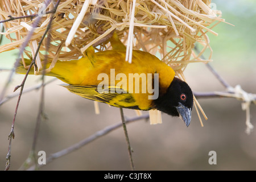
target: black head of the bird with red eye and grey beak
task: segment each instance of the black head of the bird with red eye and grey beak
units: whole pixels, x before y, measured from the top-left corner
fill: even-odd
[[[191,122],[193,93],[188,84],[174,77],[167,92],[155,100],[156,109],[180,117],[186,126]]]

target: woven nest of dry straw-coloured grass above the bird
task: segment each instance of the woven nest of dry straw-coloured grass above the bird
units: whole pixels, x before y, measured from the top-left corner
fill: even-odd
[[[4,34],[11,43],[0,47],[0,53],[19,49],[40,18],[30,41],[21,56],[34,58],[38,43],[46,31],[51,11],[57,0],[2,0],[0,19],[40,14],[34,18],[14,19],[3,23]],[[108,39],[117,32],[127,47],[127,61],[132,49],[141,49],[156,55],[170,65],[178,77],[185,80],[183,71],[189,63],[211,59],[207,33],[217,35],[212,28],[219,22],[221,11],[211,9],[210,0],[60,0],[52,20],[47,61],[54,67],[56,60],[79,59],[89,46],[97,51],[112,49]],[[35,75],[42,71],[47,41],[44,40],[36,57]],[[200,53],[193,52],[195,43],[201,44]],[[210,50],[208,60],[200,56]],[[24,67],[25,65],[23,61]],[[196,103],[199,105],[198,103]],[[200,106],[200,105],[199,105]],[[200,109],[201,110],[201,109]],[[202,111],[202,110],[201,110]]]

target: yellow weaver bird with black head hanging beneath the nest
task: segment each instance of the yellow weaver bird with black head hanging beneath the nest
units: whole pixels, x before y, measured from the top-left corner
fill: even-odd
[[[189,126],[193,94],[188,84],[175,77],[171,67],[148,52],[133,50],[132,63],[125,61],[126,47],[117,35],[110,38],[110,43],[113,50],[94,52],[94,48],[89,47],[85,57],[57,61],[46,75],[59,78],[67,83],[62,86],[70,92],[89,100],[129,109],[157,109],[180,117]],[[29,59],[25,61],[27,65],[31,63]],[[16,68],[16,73],[26,72],[22,64]]]

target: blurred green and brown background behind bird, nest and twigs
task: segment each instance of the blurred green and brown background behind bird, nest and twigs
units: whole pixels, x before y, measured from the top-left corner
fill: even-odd
[[[214,27],[218,36],[208,34],[213,49],[213,67],[230,85],[256,93],[256,2],[212,1],[222,18],[229,24]],[[4,40],[2,44],[7,43]],[[0,54],[0,68],[12,68],[17,52]],[[0,90],[9,72],[0,72]],[[185,70],[187,82],[195,91],[221,91],[223,86],[203,63],[189,64]],[[15,75],[7,94],[13,92],[23,76]],[[47,78],[49,80],[50,78]],[[30,76],[26,87],[38,84],[40,77]],[[100,115],[94,114],[93,102],[69,93],[55,81],[46,86],[45,112],[36,150],[52,154],[89,137],[104,127],[121,122],[119,109],[100,104]],[[8,135],[13,121],[17,97],[0,106],[0,169],[5,169]],[[23,94],[15,123],[12,142],[11,168],[17,170],[26,160],[32,145],[40,91]],[[191,125],[187,128],[179,118],[162,114],[161,125],[138,121],[127,125],[135,168],[138,170],[255,170],[256,131],[245,133],[246,115],[241,102],[234,98],[199,100],[208,121],[201,127],[193,109]],[[125,109],[125,115],[135,115]],[[256,106],[250,107],[251,123],[256,127]],[[203,118],[203,117],[202,117]],[[209,151],[216,151],[217,164],[208,163]],[[54,160],[42,170],[130,170],[123,129]]]

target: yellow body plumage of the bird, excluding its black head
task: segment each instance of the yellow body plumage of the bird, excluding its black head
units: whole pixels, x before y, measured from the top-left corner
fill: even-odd
[[[85,57],[79,60],[57,61],[55,67],[46,75],[59,78],[69,84],[63,85],[69,91],[90,100],[105,102],[116,107],[140,110],[151,109],[153,106],[152,100],[148,100],[148,96],[154,93],[149,93],[148,90],[146,93],[135,93],[135,82],[127,82],[126,86],[121,85],[117,87],[116,85],[119,80],[115,80],[113,84],[113,79],[108,80],[108,90],[112,90],[113,92],[99,93],[97,86],[101,84],[102,79],[99,79],[98,76],[103,73],[109,78],[112,77],[115,79],[119,73],[122,73],[128,79],[129,74],[133,74],[136,80],[141,74],[147,75],[148,73],[151,74],[152,79],[154,79],[154,74],[158,73],[159,94],[164,94],[174,79],[175,72],[154,55],[143,51],[133,50],[133,59],[130,64],[125,61],[126,51],[123,44],[118,42],[115,38],[110,40],[110,42],[114,45],[113,50],[94,52],[93,47],[89,47],[85,52]],[[31,61],[26,60],[26,62]],[[49,64],[47,64],[46,67],[49,68]],[[26,73],[26,70],[20,65],[16,69],[16,72]],[[121,78],[119,79],[122,81]],[[129,88],[129,83],[133,84],[133,90]],[[152,86],[152,80],[147,79],[145,83],[139,78],[140,91],[144,86],[148,86],[147,84],[151,84],[150,86]],[[120,92],[126,93],[119,94]]]

